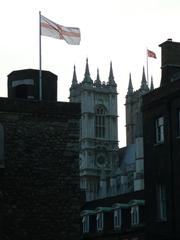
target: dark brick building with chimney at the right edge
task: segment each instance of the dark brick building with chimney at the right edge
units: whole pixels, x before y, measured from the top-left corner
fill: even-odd
[[[160,45],[160,87],[143,97],[146,239],[180,238],[180,43]]]

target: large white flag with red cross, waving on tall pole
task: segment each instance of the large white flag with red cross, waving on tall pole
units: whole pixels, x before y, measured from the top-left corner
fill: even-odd
[[[80,29],[64,27],[41,15],[41,35],[65,40],[68,44],[79,45],[81,41]]]

